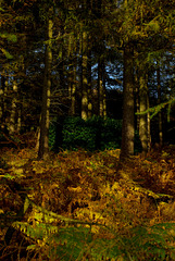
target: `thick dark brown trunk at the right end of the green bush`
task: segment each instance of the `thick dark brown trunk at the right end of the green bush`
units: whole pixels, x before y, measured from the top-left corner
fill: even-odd
[[[122,124],[122,148],[120,160],[125,160],[134,154],[134,69],[133,46],[127,44],[124,49],[124,100]]]

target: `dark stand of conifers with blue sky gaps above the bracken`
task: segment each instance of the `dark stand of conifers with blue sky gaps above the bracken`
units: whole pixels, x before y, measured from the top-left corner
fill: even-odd
[[[174,8],[163,0],[1,1],[2,135],[34,132],[39,158],[49,145],[121,147],[125,159],[134,140],[143,153],[174,144]]]

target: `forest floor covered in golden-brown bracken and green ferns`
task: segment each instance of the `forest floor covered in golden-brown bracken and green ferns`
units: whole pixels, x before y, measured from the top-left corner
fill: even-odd
[[[175,146],[118,156],[1,149],[0,260],[175,260]]]

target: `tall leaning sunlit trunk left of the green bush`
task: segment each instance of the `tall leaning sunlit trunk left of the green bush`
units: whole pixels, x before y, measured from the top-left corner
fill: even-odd
[[[46,61],[45,61],[45,78],[42,89],[42,107],[41,107],[41,122],[40,122],[40,137],[38,158],[46,159],[49,156],[49,109],[50,109],[50,87],[51,87],[51,63],[52,50],[50,39],[52,38],[52,20],[47,22],[47,40],[46,45]]]

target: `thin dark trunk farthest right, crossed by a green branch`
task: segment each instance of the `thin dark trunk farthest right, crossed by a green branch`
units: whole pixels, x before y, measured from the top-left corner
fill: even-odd
[[[157,84],[158,84],[158,104],[161,103],[161,71],[160,64],[157,63]],[[162,129],[162,112],[160,111],[159,114],[159,144],[160,146],[163,145],[163,129]]]

